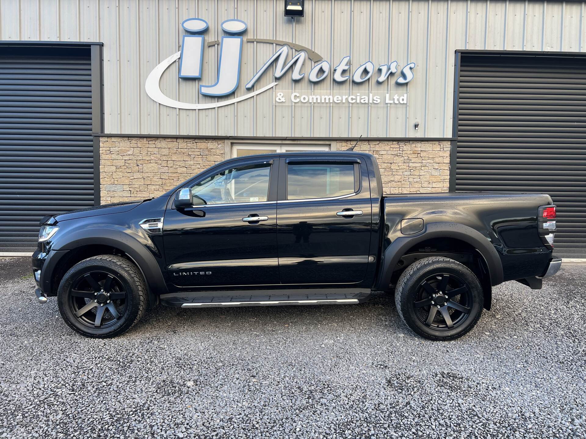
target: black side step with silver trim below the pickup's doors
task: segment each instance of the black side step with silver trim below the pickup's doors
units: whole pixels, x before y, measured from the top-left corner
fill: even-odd
[[[163,294],[161,303],[181,308],[342,305],[362,303],[369,296],[370,289],[197,291]]]

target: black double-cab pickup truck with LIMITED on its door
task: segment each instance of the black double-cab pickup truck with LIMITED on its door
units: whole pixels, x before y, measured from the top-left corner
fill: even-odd
[[[113,337],[148,307],[352,304],[395,294],[417,334],[448,340],[492,287],[554,275],[547,195],[383,195],[358,152],[238,157],[158,198],[47,216],[32,269],[73,330]]]

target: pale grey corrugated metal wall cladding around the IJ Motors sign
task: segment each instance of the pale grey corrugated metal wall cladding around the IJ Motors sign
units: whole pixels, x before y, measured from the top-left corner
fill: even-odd
[[[1,0],[4,40],[100,41],[104,43],[105,132],[234,136],[449,137],[452,132],[456,49],[563,50],[583,52],[586,23],[582,2],[518,0],[306,0],[305,17],[283,16],[282,0]],[[248,23],[245,38],[279,39],[315,50],[336,66],[345,55],[356,68],[397,60],[417,64],[408,85],[408,106],[291,107],[273,105],[265,92],[219,109],[184,110],[159,105],[144,90],[148,73],[177,52],[186,18],[207,20],[206,42],[223,35],[220,23]],[[278,46],[245,43],[242,80],[252,77]],[[203,83],[216,78],[219,48],[205,48]],[[311,61],[306,61],[307,74]],[[246,80],[244,80],[246,78]],[[270,83],[265,73],[256,87]],[[197,92],[202,81],[179,80],[178,65],[161,80],[171,98],[213,102]],[[291,73],[278,90],[399,90],[386,85],[317,85],[306,77],[292,85]],[[420,122],[418,131],[414,122]]]

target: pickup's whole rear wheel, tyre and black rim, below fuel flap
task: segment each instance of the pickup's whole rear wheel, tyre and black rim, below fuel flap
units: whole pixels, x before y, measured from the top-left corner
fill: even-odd
[[[397,311],[416,334],[430,340],[462,337],[482,314],[483,294],[468,267],[439,256],[414,262],[395,291]]]

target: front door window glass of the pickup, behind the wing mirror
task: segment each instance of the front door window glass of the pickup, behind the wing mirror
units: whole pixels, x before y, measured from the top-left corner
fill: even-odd
[[[191,188],[195,204],[267,201],[271,165],[248,164],[223,170]]]

